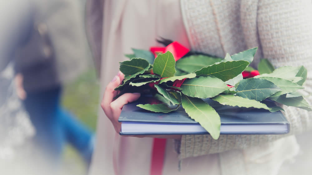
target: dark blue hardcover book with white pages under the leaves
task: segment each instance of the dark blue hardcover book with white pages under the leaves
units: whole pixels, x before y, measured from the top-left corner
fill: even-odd
[[[290,131],[290,124],[280,111],[221,105],[211,99],[204,101],[219,113],[221,135],[287,134]],[[153,104],[155,99],[141,97],[124,105],[118,120],[121,122],[120,135],[209,134],[181,106],[170,113],[150,112],[136,106],[147,103]],[[266,104],[274,105],[272,101],[266,101]]]

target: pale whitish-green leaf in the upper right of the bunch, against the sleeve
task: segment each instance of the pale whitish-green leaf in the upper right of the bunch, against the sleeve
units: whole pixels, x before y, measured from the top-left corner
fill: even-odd
[[[279,67],[270,74],[261,74],[261,75],[255,76],[255,78],[276,77],[276,78],[281,78],[281,79],[285,79],[289,81],[294,81],[297,78],[296,75],[298,71],[300,70],[300,68],[301,67],[291,67],[291,66]]]

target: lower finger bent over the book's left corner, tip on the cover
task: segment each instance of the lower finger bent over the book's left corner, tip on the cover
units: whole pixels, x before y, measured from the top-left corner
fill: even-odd
[[[121,95],[118,99],[110,103],[110,110],[112,111],[113,118],[110,120],[113,122],[116,132],[119,133],[121,123],[118,122],[119,115],[121,113],[121,109],[125,104],[134,102],[139,99],[141,95],[139,93],[126,93]]]

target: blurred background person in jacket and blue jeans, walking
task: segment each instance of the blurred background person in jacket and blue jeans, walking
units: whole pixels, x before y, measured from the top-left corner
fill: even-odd
[[[32,141],[37,153],[33,158],[57,168],[68,142],[89,164],[93,133],[61,107],[63,85],[87,67],[80,4],[75,0],[31,3],[31,30],[14,58],[17,92],[36,129]]]

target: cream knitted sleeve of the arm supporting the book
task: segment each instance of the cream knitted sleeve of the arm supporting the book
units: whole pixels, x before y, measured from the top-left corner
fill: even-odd
[[[304,65],[308,69],[308,78],[302,93],[307,96],[312,93],[311,9],[311,0],[259,0],[256,9],[256,43],[260,45],[261,55],[275,67]],[[306,100],[311,104],[312,96]],[[245,149],[312,128],[311,112],[295,107],[284,106],[284,109],[291,126],[290,134],[221,135],[218,140],[213,140],[210,135],[183,135],[181,140],[175,141],[179,158]]]

